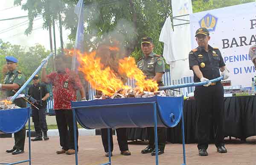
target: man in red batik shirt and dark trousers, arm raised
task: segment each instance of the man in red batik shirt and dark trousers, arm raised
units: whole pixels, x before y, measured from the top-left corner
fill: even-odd
[[[54,110],[57,121],[60,145],[62,149],[56,151],[57,154],[75,154],[74,134],[73,134],[73,114],[71,101],[76,101],[76,89],[79,89],[82,100],[85,100],[84,88],[79,76],[66,68],[64,55],[55,57],[57,72],[46,74],[46,64],[42,67],[41,81],[51,83],[54,87]],[[76,134],[78,140],[78,129],[76,123]]]

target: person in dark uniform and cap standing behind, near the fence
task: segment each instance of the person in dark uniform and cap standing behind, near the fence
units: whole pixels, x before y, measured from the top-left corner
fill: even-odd
[[[43,133],[44,133],[44,140],[49,140],[47,136],[47,123],[45,117],[45,109],[47,105],[47,98],[49,98],[49,92],[47,90],[46,84],[41,84],[39,81],[39,75],[35,75],[33,77],[33,84],[29,87],[28,95],[36,100],[35,106],[38,107],[36,109],[34,106],[32,108],[32,119],[35,126],[35,132],[37,136],[32,141],[41,141],[43,140]]]

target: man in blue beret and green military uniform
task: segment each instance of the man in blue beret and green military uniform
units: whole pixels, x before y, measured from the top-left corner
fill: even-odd
[[[0,84],[0,89],[6,90],[7,96],[15,95],[12,90],[18,91],[20,87],[25,83],[25,76],[23,73],[18,71],[17,68],[18,60],[13,56],[6,57],[6,64],[8,72],[4,78],[3,84]],[[23,98],[16,98],[14,101],[15,105],[20,108],[26,108],[26,102]],[[24,126],[20,131],[14,134],[15,145],[12,149],[6,152],[12,153],[13,155],[24,153],[24,143],[26,138],[26,127]]]

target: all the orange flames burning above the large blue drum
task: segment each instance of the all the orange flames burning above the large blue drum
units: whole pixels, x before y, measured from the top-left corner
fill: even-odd
[[[109,50],[119,51],[119,48],[109,47]],[[73,56],[74,50],[65,50],[67,54]],[[78,70],[84,75],[84,78],[96,90],[102,91],[104,95],[111,96],[119,89],[129,89],[119,75],[126,75],[128,78],[134,78],[140,91],[157,91],[157,82],[151,79],[146,80],[143,72],[137,68],[135,60],[132,57],[119,60],[118,73],[101,64],[101,59],[96,57],[96,51],[91,53],[81,53],[76,51],[76,58],[80,64]]]

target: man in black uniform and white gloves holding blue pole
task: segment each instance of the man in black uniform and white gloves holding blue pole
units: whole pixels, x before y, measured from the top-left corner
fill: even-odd
[[[194,72],[194,82],[209,81],[220,76],[229,77],[221,52],[208,45],[210,39],[207,28],[199,28],[195,33],[198,48],[189,53],[189,69]],[[219,153],[226,153],[223,135],[224,89],[220,81],[208,82],[195,87],[195,102],[198,111],[198,151],[200,156],[207,156],[210,122],[216,126],[215,145]],[[211,118],[212,117],[212,118]],[[212,119],[212,120],[211,120]]]

